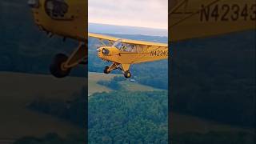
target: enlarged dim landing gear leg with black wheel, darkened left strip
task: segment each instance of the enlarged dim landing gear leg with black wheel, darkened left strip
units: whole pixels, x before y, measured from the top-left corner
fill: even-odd
[[[50,74],[53,74],[56,78],[66,77],[74,66],[85,63],[83,61],[87,60],[87,50],[86,46],[80,43],[70,57],[65,54],[56,54],[50,64]]]

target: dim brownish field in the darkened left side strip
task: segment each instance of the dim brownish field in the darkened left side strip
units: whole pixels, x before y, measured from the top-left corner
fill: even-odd
[[[26,108],[38,98],[62,101],[73,99],[74,93],[86,86],[85,78],[53,78],[50,75],[0,72],[0,135],[5,138],[42,137],[57,133],[62,137],[81,129],[48,114]],[[26,116],[26,117],[25,117]]]

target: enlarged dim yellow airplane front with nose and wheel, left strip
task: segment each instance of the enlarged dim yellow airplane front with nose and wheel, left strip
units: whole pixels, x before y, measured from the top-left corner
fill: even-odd
[[[78,47],[70,56],[56,54],[50,64],[50,73],[57,78],[66,77],[78,64],[87,62],[87,1],[86,0],[29,0],[34,22],[49,37],[53,35],[73,38]]]

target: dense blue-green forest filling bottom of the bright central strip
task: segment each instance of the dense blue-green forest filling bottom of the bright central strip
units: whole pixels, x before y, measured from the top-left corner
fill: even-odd
[[[88,107],[88,140],[96,143],[167,143],[166,91],[94,94]]]

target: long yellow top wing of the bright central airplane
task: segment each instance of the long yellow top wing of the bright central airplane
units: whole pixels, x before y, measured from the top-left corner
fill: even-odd
[[[127,43],[127,44],[133,44],[133,45],[141,45],[141,46],[159,46],[159,47],[167,47],[168,45],[166,43],[158,43],[158,42],[146,42],[146,41],[137,41],[137,40],[132,40],[132,39],[126,39],[126,38],[115,38],[103,34],[93,34],[93,33],[88,33],[89,37],[92,38],[98,38],[102,40],[108,40],[111,42],[116,42],[118,40],[122,40],[122,43]]]

